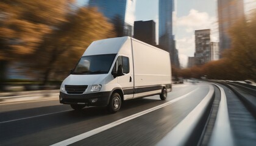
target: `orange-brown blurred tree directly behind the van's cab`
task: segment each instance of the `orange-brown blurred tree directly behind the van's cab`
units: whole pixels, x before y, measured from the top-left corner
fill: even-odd
[[[28,57],[35,61],[28,67],[37,70],[34,73],[40,74],[44,84],[49,77],[67,75],[63,72],[74,68],[92,41],[114,36],[112,25],[94,8],[80,7],[66,20]]]

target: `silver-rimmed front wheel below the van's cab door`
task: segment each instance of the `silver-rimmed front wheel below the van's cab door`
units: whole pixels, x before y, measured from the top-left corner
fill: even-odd
[[[113,93],[110,97],[107,109],[109,113],[116,113],[121,107],[121,97],[118,93]]]

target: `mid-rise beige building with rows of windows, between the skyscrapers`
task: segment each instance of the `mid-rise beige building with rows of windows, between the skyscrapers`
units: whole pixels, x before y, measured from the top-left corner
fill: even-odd
[[[211,61],[210,49],[210,29],[195,30],[196,52],[194,53],[194,62],[197,66]]]

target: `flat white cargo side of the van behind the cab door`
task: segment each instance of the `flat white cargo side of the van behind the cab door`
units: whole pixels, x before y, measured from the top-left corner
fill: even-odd
[[[159,94],[171,86],[171,62],[165,50],[132,39],[135,96]],[[170,91],[170,90],[168,90]]]

